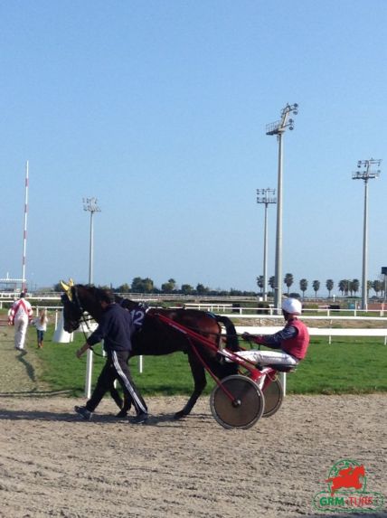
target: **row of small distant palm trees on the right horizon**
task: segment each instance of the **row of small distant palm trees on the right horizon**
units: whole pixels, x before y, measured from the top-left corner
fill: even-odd
[[[284,278],[284,284],[288,288],[288,295],[290,292],[290,287],[294,284],[294,277],[291,273],[287,273]],[[257,277],[257,285],[262,290],[263,288],[263,276],[260,275]],[[274,290],[274,287],[276,286],[276,278],[274,276],[271,276],[269,278],[269,287],[271,287],[272,290]],[[306,278],[301,278],[299,281],[299,289],[302,292],[302,296],[305,297],[305,292],[307,291],[307,287],[309,286],[309,282]],[[317,297],[317,293],[320,290],[321,282],[319,280],[313,280],[312,281],[312,288],[315,292],[315,296]],[[331,293],[335,287],[335,282],[332,278],[326,279],[326,289],[328,291],[328,297],[331,297]],[[339,292],[341,293],[342,297],[356,297],[357,292],[360,289],[360,281],[358,278],[354,279],[348,279],[344,278],[340,280],[337,283],[337,288]],[[381,279],[376,280],[368,280],[367,281],[367,292],[369,293],[370,290],[373,289],[375,292],[376,297],[379,297],[379,294],[381,296],[384,294],[384,282]]]

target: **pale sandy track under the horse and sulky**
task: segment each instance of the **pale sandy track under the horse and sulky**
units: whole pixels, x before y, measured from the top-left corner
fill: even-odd
[[[83,400],[36,397],[44,394],[39,365],[5,334],[2,327],[1,518],[340,516],[317,513],[312,501],[343,458],[363,463],[367,490],[387,497],[387,394],[287,396],[248,430],[223,429],[208,397],[181,421],[173,414],[185,398],[148,399],[146,425],[115,419],[106,399],[86,422],[73,412]]]

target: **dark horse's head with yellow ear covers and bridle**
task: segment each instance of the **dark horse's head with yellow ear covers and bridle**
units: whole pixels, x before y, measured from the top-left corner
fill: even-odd
[[[88,312],[97,322],[102,314],[102,307],[99,304],[99,288],[74,284],[61,281],[63,295],[63,328],[72,333],[80,326],[80,320],[84,312]]]

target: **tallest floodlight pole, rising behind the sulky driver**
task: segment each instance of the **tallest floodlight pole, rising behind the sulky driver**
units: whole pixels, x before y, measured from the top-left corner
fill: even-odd
[[[286,128],[294,129],[294,120],[289,115],[298,113],[297,103],[289,105],[281,111],[281,119],[268,124],[266,127],[266,135],[277,135],[278,139],[278,185],[277,185],[277,231],[276,231],[276,271],[275,271],[275,287],[274,287],[274,307],[277,313],[280,313],[282,302],[282,136]]]

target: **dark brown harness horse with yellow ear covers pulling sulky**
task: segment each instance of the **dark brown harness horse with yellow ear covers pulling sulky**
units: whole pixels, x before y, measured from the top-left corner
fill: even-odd
[[[98,323],[102,315],[99,304],[100,288],[89,285],[74,285],[61,281],[64,294],[61,296],[63,305],[63,327],[68,333],[72,333],[80,326],[84,312],[87,312]],[[222,325],[226,329],[225,346],[233,352],[241,350],[235,327],[227,316],[214,315],[197,309],[160,309],[148,308],[141,310],[138,303],[127,298],[115,296],[116,303],[132,311],[134,325],[139,329],[132,335],[131,356],[138,355],[164,355],[176,352],[187,354],[188,362],[193,375],[193,393],[182,410],[175,412],[175,419],[181,419],[190,414],[193,406],[203,393],[206,386],[205,369],[203,362],[211,372],[219,379],[238,372],[236,363],[223,363],[216,351],[205,347],[199,341],[194,341],[186,334],[178,331],[171,325],[167,325],[157,318],[157,314],[164,315],[184,325],[188,329],[202,334],[219,349],[221,346]],[[194,347],[193,347],[194,342]],[[196,352],[195,352],[196,350]],[[197,354],[197,352],[199,354]]]

